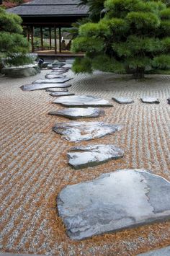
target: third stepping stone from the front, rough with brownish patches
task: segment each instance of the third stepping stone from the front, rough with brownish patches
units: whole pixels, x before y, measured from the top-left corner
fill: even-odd
[[[122,125],[111,125],[102,122],[56,123],[53,131],[62,134],[66,141],[89,141],[120,131]]]

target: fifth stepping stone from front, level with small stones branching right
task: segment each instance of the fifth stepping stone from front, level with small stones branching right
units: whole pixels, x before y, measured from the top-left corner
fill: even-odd
[[[103,100],[94,96],[76,95],[61,97],[53,103],[61,104],[67,107],[112,107],[107,100]]]

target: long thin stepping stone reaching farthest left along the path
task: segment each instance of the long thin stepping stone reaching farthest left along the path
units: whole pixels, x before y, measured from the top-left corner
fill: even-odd
[[[35,91],[38,89],[48,88],[66,88],[71,87],[71,84],[26,84],[20,87],[23,91]]]

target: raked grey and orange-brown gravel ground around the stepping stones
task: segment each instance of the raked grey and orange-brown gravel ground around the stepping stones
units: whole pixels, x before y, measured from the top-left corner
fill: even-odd
[[[136,255],[170,244],[170,221],[103,234],[73,242],[56,213],[55,198],[66,185],[99,177],[116,169],[144,168],[170,180],[169,107],[170,76],[130,76],[96,72],[74,76],[69,92],[110,100],[113,107],[94,120],[119,123],[124,129],[87,144],[115,144],[125,157],[97,167],[74,170],[66,152],[74,143],[52,131],[66,118],[48,115],[62,109],[52,105],[45,91],[22,92],[19,87],[43,78],[49,71],[27,79],[0,78],[1,213],[0,251],[45,255]],[[71,71],[68,76],[73,76]],[[132,105],[119,105],[112,97],[132,97]],[[153,96],[158,105],[140,102]],[[89,121],[90,119],[85,119]],[[82,198],[83,200],[83,198]]]

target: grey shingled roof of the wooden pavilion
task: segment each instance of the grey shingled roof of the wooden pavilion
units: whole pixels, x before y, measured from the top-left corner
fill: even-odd
[[[79,0],[34,0],[8,9],[21,17],[86,17],[88,8],[79,6]]]

